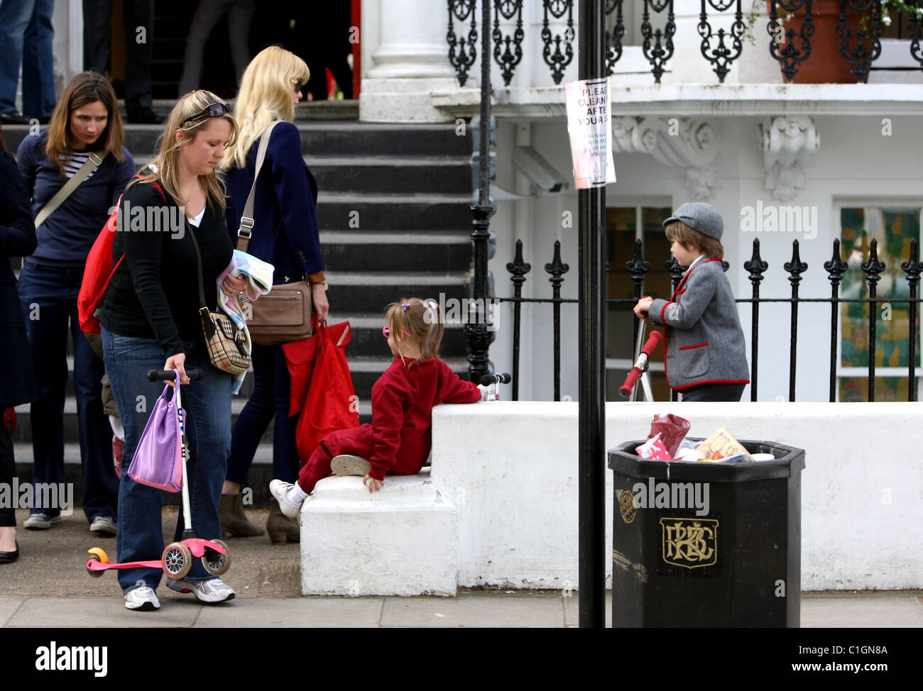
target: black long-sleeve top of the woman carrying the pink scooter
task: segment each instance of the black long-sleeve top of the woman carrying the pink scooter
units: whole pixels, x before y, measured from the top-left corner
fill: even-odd
[[[125,260],[106,289],[102,326],[122,336],[157,339],[167,357],[186,351],[183,341],[204,347],[196,248],[189,233],[196,233],[202,255],[205,303],[216,310],[215,281],[234,255],[221,208],[209,204],[196,228],[172,198],[164,202],[154,185],[140,182],[126,189],[119,209],[113,260],[123,252]]]

